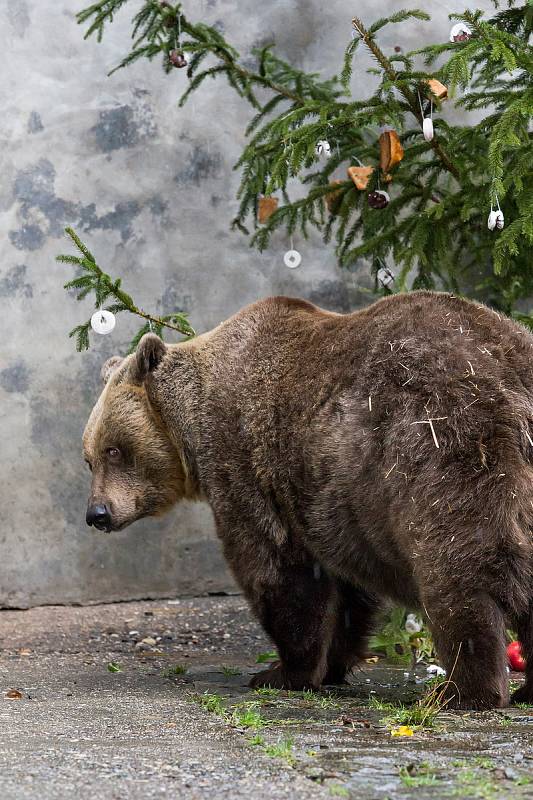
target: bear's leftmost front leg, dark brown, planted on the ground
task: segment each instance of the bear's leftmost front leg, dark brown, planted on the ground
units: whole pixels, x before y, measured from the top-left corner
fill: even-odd
[[[318,689],[336,624],[335,585],[312,563],[287,565],[277,577],[275,585],[255,587],[248,593],[280,657],[270,669],[254,675],[250,686]]]

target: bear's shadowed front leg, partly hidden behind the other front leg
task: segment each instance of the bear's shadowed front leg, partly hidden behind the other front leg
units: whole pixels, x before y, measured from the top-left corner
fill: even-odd
[[[325,684],[344,683],[352,667],[367,655],[377,600],[362,589],[336,581],[339,597],[337,621],[328,652]]]

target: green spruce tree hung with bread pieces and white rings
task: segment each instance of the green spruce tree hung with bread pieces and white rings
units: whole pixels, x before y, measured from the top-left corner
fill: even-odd
[[[100,0],[80,12],[85,37],[100,40],[127,2]],[[484,300],[533,327],[527,311],[533,295],[533,7],[509,0],[505,9],[496,4],[490,17],[480,11],[452,15],[466,26],[455,41],[386,53],[381,31],[413,19],[429,16],[413,9],[371,24],[354,18],[340,75],[323,80],[278,58],[272,45],[254,51],[251,68],[218,30],[191,21],[181,3],[149,0],[133,17],[131,50],[115,69],[159,59],[167,74],[187,69],[181,105],[204,81],[220,77],[250,104],[247,142],[235,165],[240,206],[232,224],[252,246],[268,247],[279,228],[304,237],[315,228],[335,247],[342,267],[370,260],[377,293],[445,289]],[[378,86],[354,100],[349,87],[361,46],[375,61],[370,71]],[[466,121],[452,124],[452,108]],[[423,125],[432,109],[430,138]],[[468,124],[467,112],[480,110],[481,121]],[[317,152],[328,149],[326,158]],[[295,179],[305,195],[291,200]],[[497,221],[489,229],[491,207],[501,208],[503,228]],[[102,283],[87,277],[68,285],[81,297],[94,291],[99,307]],[[116,284],[104,285],[116,310],[136,313],[133,301],[132,308],[117,299]],[[185,323],[182,315],[178,322],[159,319],[157,332]],[[88,330],[75,332],[78,347],[88,346]],[[183,332],[190,334],[190,326]]]

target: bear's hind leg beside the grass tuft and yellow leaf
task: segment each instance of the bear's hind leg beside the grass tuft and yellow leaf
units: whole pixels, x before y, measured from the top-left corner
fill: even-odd
[[[449,708],[502,708],[509,703],[505,619],[486,593],[453,597],[434,587],[424,606],[437,653],[447,673],[444,700]]]

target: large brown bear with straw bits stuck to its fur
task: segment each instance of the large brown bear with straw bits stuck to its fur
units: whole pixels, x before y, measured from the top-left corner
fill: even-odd
[[[104,365],[87,522],[211,505],[280,661],[253,686],[342,681],[380,602],[425,612],[448,696],[533,701],[533,336],[449,294],[352,314],[273,297]]]

